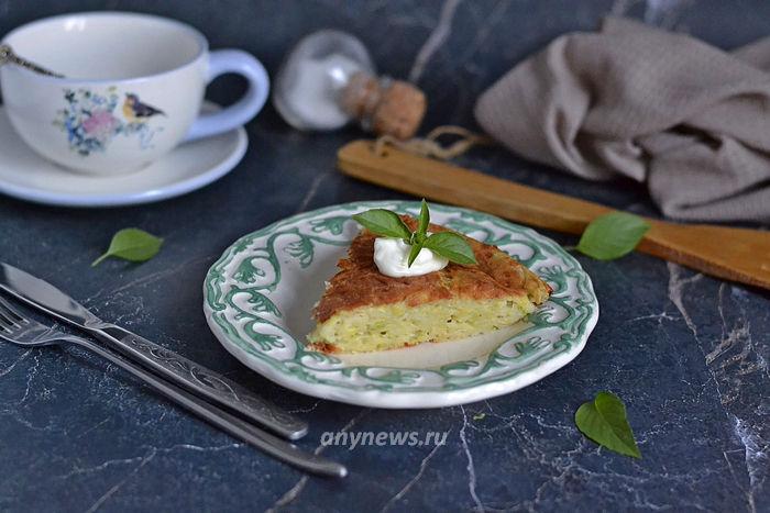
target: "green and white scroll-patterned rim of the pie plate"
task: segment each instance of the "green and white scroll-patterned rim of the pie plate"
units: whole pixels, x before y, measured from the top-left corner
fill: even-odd
[[[210,322],[268,373],[307,384],[392,393],[463,390],[509,380],[563,358],[565,353],[576,355],[585,345],[598,303],[588,276],[570,254],[530,228],[466,209],[431,204],[436,222],[499,247],[553,288],[549,301],[529,316],[531,326],[486,357],[438,369],[346,366],[333,356],[306,349],[304,341],[286,331],[280,304],[275,301],[282,258],[307,269],[323,246],[346,247],[355,233],[344,230],[346,223],[355,224],[350,216],[372,208],[417,215],[420,205],[414,201],[346,203],[298,214],[241,237],[206,277],[205,306]]]

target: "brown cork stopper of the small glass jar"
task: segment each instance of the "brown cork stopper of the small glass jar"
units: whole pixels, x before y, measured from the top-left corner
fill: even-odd
[[[411,83],[362,73],[351,77],[340,101],[365,130],[399,140],[415,135],[426,111],[425,93]]]

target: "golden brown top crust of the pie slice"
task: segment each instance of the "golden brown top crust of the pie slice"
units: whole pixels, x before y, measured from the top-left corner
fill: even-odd
[[[415,230],[416,220],[406,215],[402,219]],[[436,224],[429,230],[432,233],[448,231]],[[544,281],[514,258],[469,237],[465,238],[473,248],[477,265],[449,264],[439,271],[422,276],[391,278],[382,275],[374,264],[375,238],[363,230],[353,239],[348,258],[338,264],[340,271],[329,281],[315,310],[316,321],[322,323],[339,311],[361,306],[397,302],[418,305],[451,298],[485,300],[526,294],[531,302],[540,304],[551,293]]]

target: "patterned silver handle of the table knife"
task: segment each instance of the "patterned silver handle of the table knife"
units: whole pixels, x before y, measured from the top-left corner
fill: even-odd
[[[170,349],[113,324],[100,324],[90,327],[89,331],[111,348],[155,370],[172,382],[230,408],[288,439],[301,438],[308,432],[308,425],[304,421]]]

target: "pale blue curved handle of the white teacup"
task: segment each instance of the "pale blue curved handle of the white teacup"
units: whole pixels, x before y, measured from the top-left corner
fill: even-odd
[[[219,112],[201,114],[190,126],[183,142],[211,137],[229,132],[251,121],[264,107],[270,91],[270,78],[262,63],[240,49],[217,49],[209,54],[209,73],[206,83],[233,73],[249,81],[246,93],[232,105]]]

